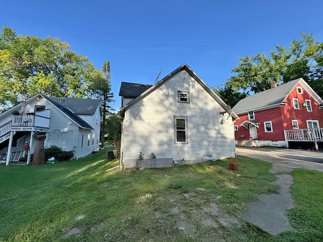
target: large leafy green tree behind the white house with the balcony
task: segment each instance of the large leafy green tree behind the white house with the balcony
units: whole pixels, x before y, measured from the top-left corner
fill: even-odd
[[[38,92],[49,96],[90,96],[96,74],[84,55],[58,38],[0,34],[0,105],[11,107]]]

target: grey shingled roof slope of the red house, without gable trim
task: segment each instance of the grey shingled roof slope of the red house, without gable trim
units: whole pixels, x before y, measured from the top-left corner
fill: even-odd
[[[275,104],[282,103],[291,90],[296,86],[296,84],[301,80],[301,78],[294,81],[290,81],[286,84],[280,85],[278,87],[268,89],[266,91],[254,94],[252,96],[246,97],[240,100],[232,110],[235,113],[243,113],[262,107],[267,107]]]

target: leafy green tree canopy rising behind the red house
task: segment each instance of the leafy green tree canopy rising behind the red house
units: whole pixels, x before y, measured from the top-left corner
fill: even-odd
[[[257,53],[239,57],[239,64],[231,71],[236,73],[227,83],[235,91],[248,94],[270,88],[271,81],[278,84],[303,78],[318,95],[323,95],[323,44],[312,34],[301,33],[301,40],[294,39],[287,47],[276,45],[269,56]]]

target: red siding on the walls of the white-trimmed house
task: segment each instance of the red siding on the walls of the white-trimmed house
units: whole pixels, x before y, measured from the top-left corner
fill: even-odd
[[[302,87],[303,93],[297,93],[297,87]],[[293,98],[298,99],[299,108],[294,109]],[[303,106],[305,99],[311,100],[312,112],[307,111]],[[318,120],[319,127],[323,128],[323,111],[318,108],[318,103],[300,84],[292,90],[284,100],[287,104],[281,107],[255,111],[255,121],[260,123],[257,129],[258,140],[284,141],[284,130],[292,130],[292,120],[298,120],[299,129],[307,129],[306,120]],[[248,120],[248,114],[240,114],[240,119],[236,120],[238,131],[235,131],[236,140],[249,140],[249,130],[240,126],[245,120]],[[264,132],[264,122],[272,122],[273,132]]]

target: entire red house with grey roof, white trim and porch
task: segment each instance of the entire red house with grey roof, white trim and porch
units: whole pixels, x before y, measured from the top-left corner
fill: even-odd
[[[314,148],[323,146],[323,100],[296,79],[240,100],[232,110],[239,146]]]

